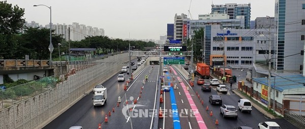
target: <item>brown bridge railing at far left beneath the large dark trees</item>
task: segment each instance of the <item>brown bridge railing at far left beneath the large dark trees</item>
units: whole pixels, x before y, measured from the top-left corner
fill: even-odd
[[[49,60],[1,59],[0,67],[44,67]]]

